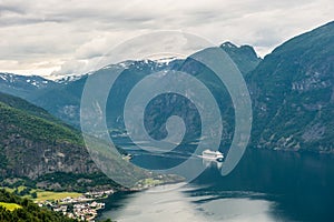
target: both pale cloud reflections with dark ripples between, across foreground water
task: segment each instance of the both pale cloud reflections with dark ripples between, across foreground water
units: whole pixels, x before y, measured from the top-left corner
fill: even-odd
[[[119,222],[277,221],[272,215],[275,203],[249,198],[255,196],[253,193],[195,193],[195,186],[138,192],[122,200],[120,208],[106,212],[104,219],[110,216]]]

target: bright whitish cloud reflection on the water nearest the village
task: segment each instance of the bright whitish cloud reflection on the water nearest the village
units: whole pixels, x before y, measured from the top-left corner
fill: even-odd
[[[119,222],[206,221],[180,190],[155,188],[153,191],[128,195],[121,208],[105,213],[104,218],[112,216]]]

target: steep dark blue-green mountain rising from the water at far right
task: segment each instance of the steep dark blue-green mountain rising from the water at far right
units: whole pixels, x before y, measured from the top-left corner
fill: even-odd
[[[253,145],[334,152],[334,22],[277,47],[247,82]]]

